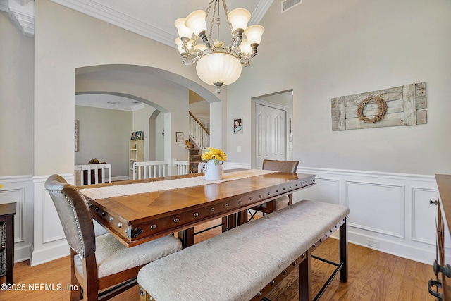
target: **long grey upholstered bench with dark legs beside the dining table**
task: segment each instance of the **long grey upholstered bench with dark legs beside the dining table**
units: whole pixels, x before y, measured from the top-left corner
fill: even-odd
[[[349,208],[301,201],[257,221],[144,266],[141,300],[262,300],[290,271],[299,269],[299,300],[316,300],[338,271],[347,281]],[[311,252],[340,229],[340,263],[316,297]],[[317,257],[316,257],[317,258]]]

